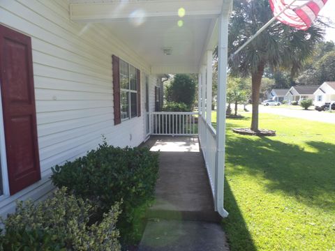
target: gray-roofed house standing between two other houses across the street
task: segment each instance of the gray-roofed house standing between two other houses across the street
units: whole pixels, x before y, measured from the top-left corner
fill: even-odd
[[[314,100],[314,93],[318,88],[318,85],[292,86],[286,93],[284,100],[289,103],[292,101],[300,102],[303,99]]]

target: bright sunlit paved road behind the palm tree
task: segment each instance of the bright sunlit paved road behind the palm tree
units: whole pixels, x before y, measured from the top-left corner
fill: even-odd
[[[251,111],[251,107],[248,107]],[[290,116],[298,119],[308,119],[311,121],[319,121],[325,123],[335,124],[335,112],[318,112],[315,110],[303,110],[303,109],[289,109],[286,107],[265,107],[260,105],[261,113],[278,114],[282,116]]]

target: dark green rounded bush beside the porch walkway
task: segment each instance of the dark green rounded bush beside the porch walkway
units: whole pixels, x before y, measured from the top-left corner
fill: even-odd
[[[120,149],[104,142],[97,150],[52,169],[52,182],[66,186],[75,195],[95,201],[100,218],[122,201],[117,227],[121,241],[137,241],[138,220],[154,198],[158,178],[158,155],[147,148]]]

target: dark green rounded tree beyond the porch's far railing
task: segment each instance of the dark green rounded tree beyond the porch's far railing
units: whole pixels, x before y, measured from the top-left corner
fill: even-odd
[[[195,80],[186,74],[177,74],[166,87],[166,100],[168,102],[183,102],[192,107],[195,101]]]

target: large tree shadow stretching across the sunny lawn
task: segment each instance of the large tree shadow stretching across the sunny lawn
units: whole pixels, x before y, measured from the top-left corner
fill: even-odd
[[[307,142],[306,151],[268,137],[228,137],[230,176],[262,176],[269,192],[278,190],[311,207],[334,210],[335,144]]]

